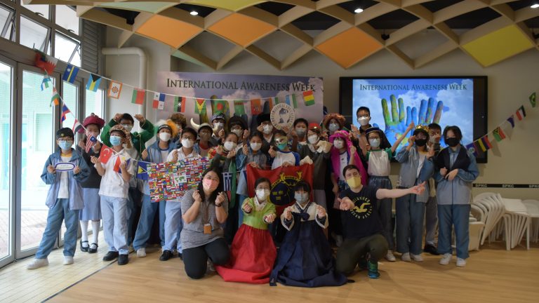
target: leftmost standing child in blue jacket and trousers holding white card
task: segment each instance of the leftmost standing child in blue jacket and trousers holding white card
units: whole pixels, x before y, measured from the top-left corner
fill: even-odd
[[[48,189],[46,205],[48,207],[47,224],[43,238],[32,263],[27,269],[37,269],[48,265],[48,255],[54,248],[58,232],[65,222],[64,265],[73,264],[76,249],[76,233],[79,226],[79,210],[83,208],[81,182],[90,175],[90,169],[79,152],[72,149],[74,134],[70,128],[60,128],[56,132],[56,152],[48,156],[41,180],[51,185]],[[58,163],[69,162],[74,167],[69,171],[56,170]]]

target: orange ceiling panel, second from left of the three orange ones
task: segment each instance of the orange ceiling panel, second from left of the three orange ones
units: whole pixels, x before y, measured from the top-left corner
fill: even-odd
[[[239,13],[233,13],[208,27],[208,31],[243,47],[249,46],[274,30],[273,25]]]

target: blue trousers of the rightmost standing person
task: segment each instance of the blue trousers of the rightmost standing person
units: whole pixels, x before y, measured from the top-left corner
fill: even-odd
[[[451,226],[455,226],[457,257],[467,259],[470,244],[470,204],[438,205],[438,253],[453,253]]]

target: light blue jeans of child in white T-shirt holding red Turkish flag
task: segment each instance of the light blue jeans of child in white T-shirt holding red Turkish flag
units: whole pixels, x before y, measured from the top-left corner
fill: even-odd
[[[117,251],[120,255],[128,255],[127,220],[131,213],[128,198],[101,196],[101,215],[103,232],[109,251]]]

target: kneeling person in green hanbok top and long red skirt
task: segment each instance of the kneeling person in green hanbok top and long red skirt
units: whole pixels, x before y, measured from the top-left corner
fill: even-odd
[[[264,284],[270,281],[277,249],[267,225],[277,215],[270,201],[271,182],[260,178],[255,182],[255,196],[241,204],[244,224],[238,229],[230,248],[230,262],[215,270],[227,282]]]

